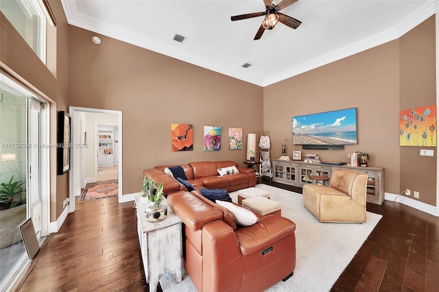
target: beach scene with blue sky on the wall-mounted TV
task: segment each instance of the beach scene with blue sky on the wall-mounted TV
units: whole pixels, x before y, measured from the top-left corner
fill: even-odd
[[[294,145],[357,144],[357,109],[334,110],[292,118]]]

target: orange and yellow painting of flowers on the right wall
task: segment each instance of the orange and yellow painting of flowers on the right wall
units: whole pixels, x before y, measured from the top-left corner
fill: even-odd
[[[399,145],[436,146],[436,105],[402,110],[399,114]]]

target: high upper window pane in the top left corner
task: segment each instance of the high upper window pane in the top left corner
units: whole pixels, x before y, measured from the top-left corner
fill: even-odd
[[[45,63],[46,18],[36,1],[1,0],[0,10]]]

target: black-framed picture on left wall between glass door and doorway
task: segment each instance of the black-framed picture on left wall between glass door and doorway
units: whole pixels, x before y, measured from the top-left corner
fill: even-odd
[[[56,154],[58,175],[67,173],[70,170],[70,123],[70,115],[60,110],[60,112],[58,112],[58,149]]]

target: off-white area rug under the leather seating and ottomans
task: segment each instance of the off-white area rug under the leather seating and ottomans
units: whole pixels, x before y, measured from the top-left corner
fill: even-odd
[[[278,282],[268,292],[330,291],[340,274],[351,262],[381,215],[367,212],[366,223],[320,223],[303,206],[302,195],[281,188],[258,184],[281,203],[282,216],[296,223],[296,269],[286,282]],[[230,193],[237,202],[237,192]],[[165,273],[160,280],[163,291],[196,291],[186,276],[176,284],[174,275]]]

